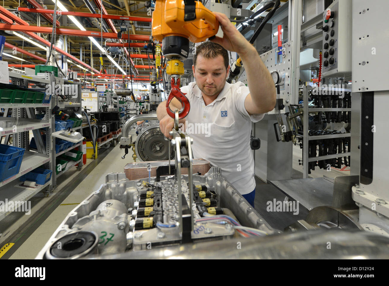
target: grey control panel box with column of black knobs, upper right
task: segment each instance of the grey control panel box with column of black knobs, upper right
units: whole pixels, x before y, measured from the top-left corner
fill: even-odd
[[[336,0],[323,12],[322,77],[351,74],[351,15],[351,0]]]

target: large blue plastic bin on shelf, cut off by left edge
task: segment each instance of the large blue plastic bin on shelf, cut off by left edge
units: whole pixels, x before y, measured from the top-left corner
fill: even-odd
[[[0,144],[0,182],[19,173],[25,149]]]

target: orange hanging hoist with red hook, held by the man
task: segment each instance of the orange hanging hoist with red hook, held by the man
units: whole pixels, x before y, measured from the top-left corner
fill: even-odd
[[[203,42],[216,35],[219,21],[216,16],[195,0],[156,0],[152,13],[152,37],[162,42],[162,53],[169,61],[166,73],[172,77],[172,88],[166,100],[166,111],[170,117],[175,114],[169,107],[173,97],[182,105],[179,119],[189,113],[190,105],[184,93],[180,91],[180,75],[184,74],[184,63],[189,53],[189,40]]]

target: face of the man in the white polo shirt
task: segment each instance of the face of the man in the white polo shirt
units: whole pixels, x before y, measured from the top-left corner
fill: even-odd
[[[230,67],[226,70],[221,55],[216,58],[203,58],[202,55],[198,55],[196,67],[192,65],[198,88],[200,88],[203,95],[209,97],[219,95],[226,84],[229,69]]]

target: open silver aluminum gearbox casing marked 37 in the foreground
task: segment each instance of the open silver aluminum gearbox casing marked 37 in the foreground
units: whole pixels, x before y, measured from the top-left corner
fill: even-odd
[[[159,200],[162,210],[155,212],[154,219],[164,224],[177,225],[177,185],[174,176],[161,176],[159,182],[152,179],[151,184],[155,188],[143,181],[146,179],[129,181],[124,173],[108,174],[106,183],[66,216],[36,258],[91,258],[180,245],[182,235],[177,226],[161,228],[154,225],[142,228],[143,225],[142,229],[138,228],[144,194],[150,189],[154,189],[155,209],[158,208]],[[182,175],[181,181],[182,194],[188,201],[187,175]],[[280,233],[224,179],[219,167],[212,167],[205,175],[193,175],[193,184],[206,186],[212,191],[213,197],[217,198],[217,207],[229,209],[229,215],[235,217],[241,225],[257,228],[269,235]],[[232,225],[211,223],[201,218],[194,202],[191,206],[194,210],[194,227],[190,232],[193,243],[231,239],[237,234]],[[61,242],[60,251],[58,242]]]

